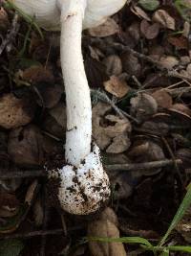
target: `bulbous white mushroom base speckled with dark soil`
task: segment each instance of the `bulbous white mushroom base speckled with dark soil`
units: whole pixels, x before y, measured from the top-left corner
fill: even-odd
[[[49,176],[59,177],[59,203],[64,211],[71,214],[92,214],[104,205],[111,194],[109,178],[103,170],[96,145],[78,168],[66,165],[50,172]]]

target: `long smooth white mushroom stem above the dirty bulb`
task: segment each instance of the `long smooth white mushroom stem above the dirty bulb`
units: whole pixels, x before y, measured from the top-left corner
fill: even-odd
[[[69,11],[61,14],[61,66],[67,104],[65,156],[69,164],[78,166],[91,151],[92,107],[88,81],[81,52],[84,0],[73,0]]]

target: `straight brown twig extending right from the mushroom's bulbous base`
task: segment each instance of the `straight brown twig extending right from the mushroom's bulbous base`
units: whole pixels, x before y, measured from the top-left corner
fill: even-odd
[[[147,163],[136,163],[136,164],[115,164],[115,165],[106,165],[105,168],[109,171],[144,171],[145,169],[154,169],[161,168],[166,166],[174,165],[176,162],[177,165],[182,164],[180,159],[169,160],[163,159],[159,161],[147,162]]]

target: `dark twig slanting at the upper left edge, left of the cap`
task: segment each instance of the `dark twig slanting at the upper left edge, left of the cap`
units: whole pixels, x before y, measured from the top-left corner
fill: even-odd
[[[15,13],[12,23],[11,23],[11,31],[10,33],[6,36],[6,38],[3,40],[3,42],[0,45],[0,55],[3,53],[4,49],[8,47],[11,42],[14,40],[15,36],[17,35],[19,30],[19,24],[18,24],[18,14]],[[11,47],[9,47],[9,51],[11,50]]]

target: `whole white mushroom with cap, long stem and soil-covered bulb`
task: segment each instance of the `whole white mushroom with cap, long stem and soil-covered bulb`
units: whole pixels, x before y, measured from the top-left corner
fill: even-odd
[[[61,66],[67,102],[65,156],[59,175],[61,207],[72,214],[95,212],[110,197],[109,178],[99,149],[92,143],[90,89],[81,53],[82,29],[101,24],[123,7],[126,0],[12,0],[23,12],[36,17],[48,30],[61,27]]]

